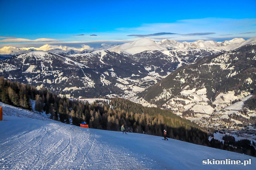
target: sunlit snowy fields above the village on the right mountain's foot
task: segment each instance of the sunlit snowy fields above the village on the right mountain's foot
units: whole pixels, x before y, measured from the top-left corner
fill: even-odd
[[[208,103],[210,101],[206,96],[206,88],[199,89],[197,91],[195,88],[192,90],[183,90],[180,94],[186,98],[172,98],[163,106],[170,108],[174,113],[178,115],[184,110],[193,110],[197,114],[195,114],[194,117],[187,117],[187,119],[191,121],[198,121],[202,117],[208,118],[210,117],[209,115],[213,113],[219,114],[221,115],[221,118],[227,119],[229,119],[229,114],[242,115],[240,114],[240,110],[243,109],[244,102],[252,97],[249,92],[242,92],[237,96],[235,96],[234,91],[229,91],[225,94],[221,93],[213,102],[213,104],[216,105],[216,107],[213,108]],[[234,100],[238,101],[232,104]],[[254,114],[249,115],[254,116]],[[244,117],[250,119],[250,116]]]

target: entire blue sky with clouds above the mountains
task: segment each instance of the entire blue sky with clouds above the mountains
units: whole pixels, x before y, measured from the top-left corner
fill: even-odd
[[[255,0],[0,0],[0,47],[248,39],[255,8]]]

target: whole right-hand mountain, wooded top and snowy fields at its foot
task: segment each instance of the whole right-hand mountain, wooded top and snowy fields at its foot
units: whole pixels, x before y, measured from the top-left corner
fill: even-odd
[[[216,121],[227,119],[236,124],[253,123],[252,117],[256,116],[253,102],[256,89],[255,40],[243,41],[243,44],[253,43],[235,50],[182,65],[139,96],[190,120],[204,117]],[[249,102],[245,105],[247,100]]]

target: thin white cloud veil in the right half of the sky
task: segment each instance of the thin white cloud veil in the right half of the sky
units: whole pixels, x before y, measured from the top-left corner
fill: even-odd
[[[184,40],[182,34],[189,34],[186,40],[201,39],[205,33],[215,33],[209,37],[218,37],[223,34],[233,34],[240,37],[241,32],[250,32],[249,37],[256,36],[256,19],[228,19],[228,18],[203,18],[203,19],[185,19],[173,23],[152,23],[142,24],[139,27],[119,28],[122,32],[129,34],[152,34],[157,32],[172,32],[181,35],[175,35],[174,40]],[[200,35],[201,34],[201,35]],[[127,34],[128,35],[128,34]],[[203,38],[203,37],[202,37]]]

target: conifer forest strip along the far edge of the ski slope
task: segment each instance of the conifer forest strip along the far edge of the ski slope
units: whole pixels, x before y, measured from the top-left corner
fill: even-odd
[[[167,110],[147,108],[125,99],[109,98],[111,102],[96,101],[93,104],[58,97],[47,89],[11,82],[0,78],[0,101],[14,106],[46,113],[51,119],[79,126],[85,121],[90,128],[120,131],[122,124],[133,132],[162,136],[164,129],[168,137],[198,145],[246,153],[254,156],[254,147],[232,148],[218,140],[208,140],[209,134],[196,124],[182,119]],[[34,100],[34,101],[33,101]],[[35,113],[36,114],[36,113]]]

